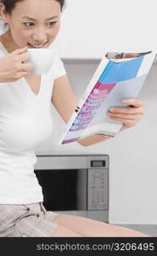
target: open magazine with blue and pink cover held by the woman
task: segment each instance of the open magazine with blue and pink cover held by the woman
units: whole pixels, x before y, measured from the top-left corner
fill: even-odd
[[[59,144],[73,143],[93,134],[115,137],[122,123],[109,118],[109,108],[127,108],[122,100],[137,98],[156,55],[154,51],[104,55],[65,126]]]

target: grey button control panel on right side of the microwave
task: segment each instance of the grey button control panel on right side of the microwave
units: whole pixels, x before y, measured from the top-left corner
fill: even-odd
[[[102,167],[87,170],[87,210],[109,209],[109,169]]]

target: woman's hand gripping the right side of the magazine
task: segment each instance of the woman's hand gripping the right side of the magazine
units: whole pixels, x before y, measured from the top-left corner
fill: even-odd
[[[144,109],[143,109],[143,102],[139,100],[127,99],[127,100],[123,100],[122,102],[127,105],[132,105],[132,107],[110,108],[108,115],[109,115],[109,118],[115,119],[123,123],[121,130],[124,130],[137,125],[137,123],[141,120],[144,114]]]

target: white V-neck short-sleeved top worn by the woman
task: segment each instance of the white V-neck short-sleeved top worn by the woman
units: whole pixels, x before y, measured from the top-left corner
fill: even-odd
[[[0,58],[6,54],[0,42]],[[36,148],[52,133],[53,82],[64,74],[63,62],[55,54],[48,75],[41,76],[37,96],[25,78],[0,83],[0,204],[43,201],[34,173]]]

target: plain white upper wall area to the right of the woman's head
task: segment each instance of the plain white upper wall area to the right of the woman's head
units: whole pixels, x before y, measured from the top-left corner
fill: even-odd
[[[55,45],[63,58],[156,49],[156,0],[67,0]]]

